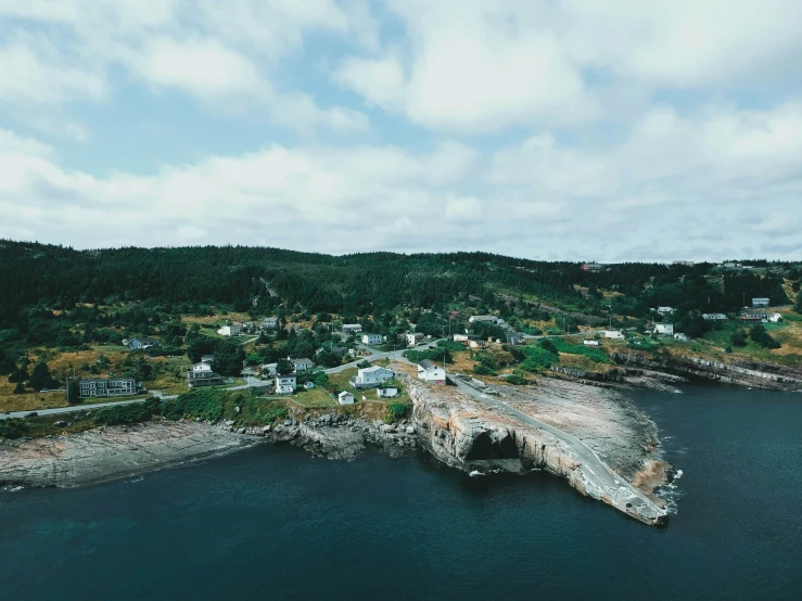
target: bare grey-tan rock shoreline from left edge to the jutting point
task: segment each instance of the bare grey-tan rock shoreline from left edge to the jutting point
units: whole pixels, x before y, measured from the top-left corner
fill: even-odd
[[[391,456],[422,449],[468,474],[548,471],[644,523],[664,522],[664,503],[654,496],[664,470],[649,471],[659,459],[655,429],[616,395],[567,382],[540,391],[505,387],[499,394],[520,411],[515,418],[453,386],[415,379],[406,385],[413,414],[392,424],[342,408],[322,414],[293,408],[288,419],[265,426],[160,420],[9,442],[0,445],[0,485],[93,484],[258,443],[341,460],[375,445]],[[526,423],[530,415],[540,421]]]

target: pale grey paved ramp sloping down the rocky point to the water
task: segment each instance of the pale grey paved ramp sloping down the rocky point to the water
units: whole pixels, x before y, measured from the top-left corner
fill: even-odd
[[[460,381],[459,378],[454,378],[453,381],[457,384],[457,387],[460,391],[471,395],[473,398],[481,402],[489,405],[494,409],[498,410],[499,413],[514,418],[518,421],[532,427],[548,432],[552,436],[569,445],[582,460],[585,470],[587,470],[587,472],[589,472],[594,476],[596,483],[600,486],[612,489],[624,488],[633,496],[633,499],[631,500],[633,506],[646,506],[649,508],[653,508],[653,510],[657,512],[662,512],[659,508],[657,508],[657,506],[654,506],[653,501],[649,499],[646,495],[640,493],[640,490],[632,486],[628,482],[614,476],[607,468],[607,464],[601,461],[601,459],[599,459],[596,452],[594,452],[590,447],[580,440],[576,436],[573,436],[560,429],[557,429],[552,425],[542,422],[540,420],[527,415],[526,413],[519,411],[514,407],[507,405],[499,398],[486,395],[473,388],[472,386],[469,386],[464,382]]]

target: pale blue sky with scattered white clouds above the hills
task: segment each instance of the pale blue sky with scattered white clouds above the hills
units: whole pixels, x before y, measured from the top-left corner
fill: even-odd
[[[799,0],[0,0],[0,238],[802,259]]]

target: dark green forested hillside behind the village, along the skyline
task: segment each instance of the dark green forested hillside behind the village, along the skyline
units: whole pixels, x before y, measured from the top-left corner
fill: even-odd
[[[647,315],[657,305],[731,310],[744,296],[788,303],[784,279],[798,281],[799,266],[753,264],[758,269],[751,271],[721,271],[710,264],[621,264],[589,273],[577,263],[488,253],[335,257],[245,246],[75,251],[0,240],[0,325],[9,327],[31,306],[132,300],[229,305],[262,315],[279,305],[301,306],[354,316],[471,299],[487,309],[532,300],[631,316]]]

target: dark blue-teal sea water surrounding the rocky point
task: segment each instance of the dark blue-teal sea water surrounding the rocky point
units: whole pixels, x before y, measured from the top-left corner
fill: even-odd
[[[547,475],[259,447],[0,494],[0,599],[800,599],[802,395],[638,393],[684,472],[650,528]]]

